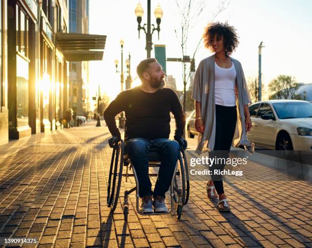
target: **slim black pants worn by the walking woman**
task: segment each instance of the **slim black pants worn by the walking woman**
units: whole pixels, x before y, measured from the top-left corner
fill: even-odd
[[[236,106],[222,106],[216,104],[216,139],[214,151],[209,152],[209,157],[218,159],[210,167],[211,179],[214,182],[218,195],[223,194],[222,175],[214,173],[215,170],[222,171],[226,165],[224,161],[229,157],[233,135],[237,121]]]

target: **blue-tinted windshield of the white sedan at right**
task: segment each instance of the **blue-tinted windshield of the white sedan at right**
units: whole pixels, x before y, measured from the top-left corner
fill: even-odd
[[[278,102],[273,103],[279,119],[312,118],[312,103]]]

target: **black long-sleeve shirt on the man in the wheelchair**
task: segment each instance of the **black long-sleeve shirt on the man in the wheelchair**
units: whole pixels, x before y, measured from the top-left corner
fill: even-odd
[[[104,112],[104,119],[113,136],[120,137],[115,116],[125,112],[125,141],[141,137],[149,140],[169,139],[170,112],[174,115],[175,139],[183,136],[185,115],[176,93],[170,88],[147,93],[136,87],[121,92]]]

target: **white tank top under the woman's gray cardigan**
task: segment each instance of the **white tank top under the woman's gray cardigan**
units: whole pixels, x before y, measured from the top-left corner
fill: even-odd
[[[235,106],[236,70],[234,63],[230,68],[221,68],[215,62],[215,98],[216,104]]]

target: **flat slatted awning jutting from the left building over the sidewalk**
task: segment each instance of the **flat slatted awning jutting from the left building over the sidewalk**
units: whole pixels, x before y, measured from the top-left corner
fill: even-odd
[[[56,45],[67,61],[102,60],[106,35],[56,33]]]

